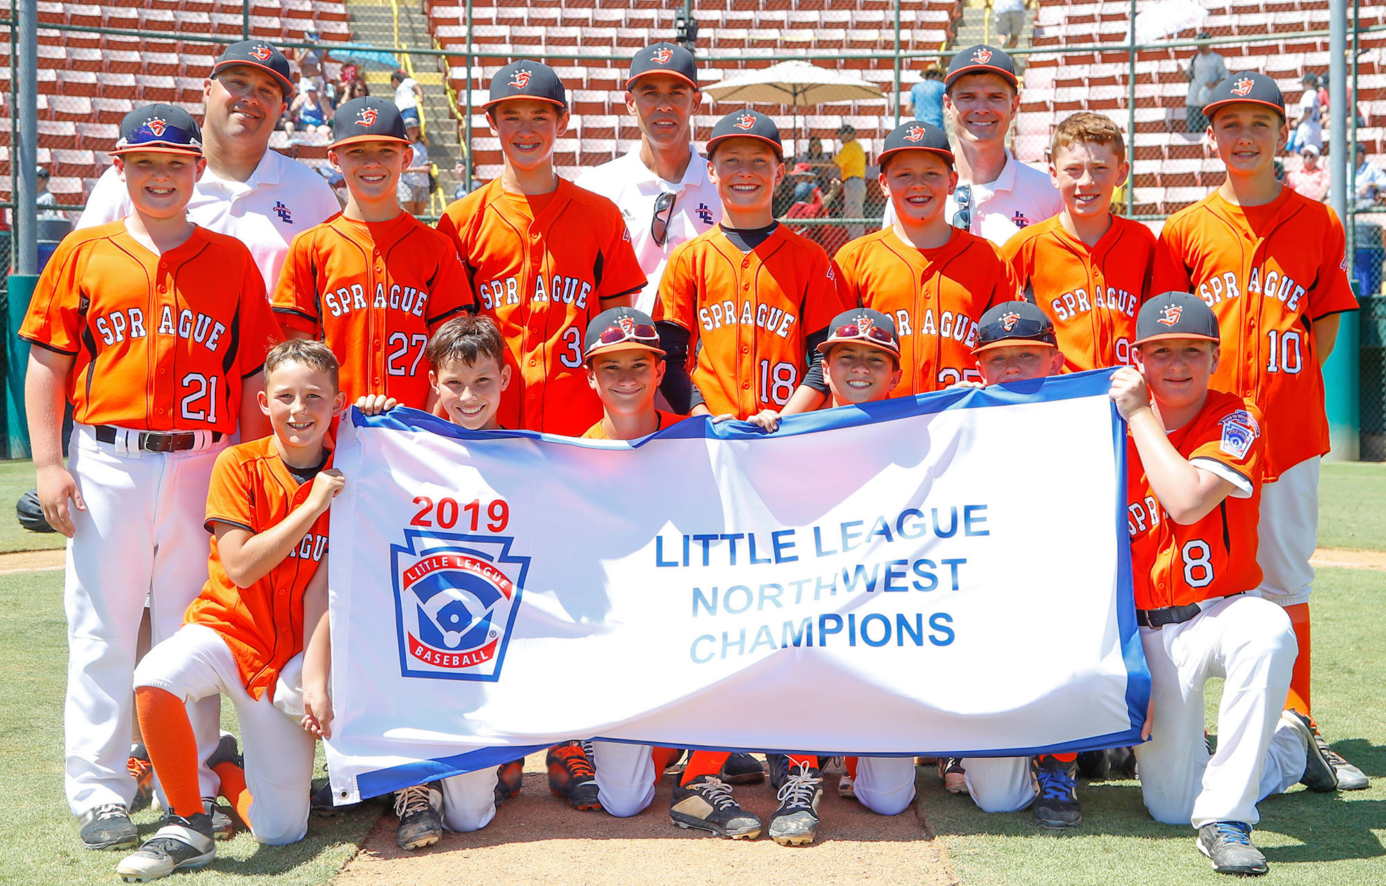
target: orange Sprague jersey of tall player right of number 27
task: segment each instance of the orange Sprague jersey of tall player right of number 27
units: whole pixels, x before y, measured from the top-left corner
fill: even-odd
[[[438,230],[457,244],[506,340],[500,424],[568,437],[592,427],[602,403],[582,369],[582,334],[603,298],[644,287],[621,211],[565,179],[536,197],[496,179],[449,205]]]

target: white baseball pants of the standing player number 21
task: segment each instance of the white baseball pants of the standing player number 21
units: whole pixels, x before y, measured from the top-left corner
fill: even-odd
[[[200,434],[188,452],[140,452],[136,431],[103,444],[86,424],[72,428],[68,470],[86,501],[71,509],[62,605],[68,617],[64,704],[67,776],[73,815],[105,803],[129,806],[134,779],[125,763],[134,710],[134,641],[150,602],[151,643],[173,636],[207,582],[207,487],[225,442]],[[188,707],[198,757],[216,750],[220,700]],[[216,776],[202,767],[204,796]]]

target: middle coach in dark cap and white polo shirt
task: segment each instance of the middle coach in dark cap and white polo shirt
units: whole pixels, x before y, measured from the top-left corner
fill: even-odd
[[[707,162],[693,148],[693,111],[701,100],[692,53],[674,43],[642,49],[625,82],[625,107],[639,121],[640,143],[575,182],[621,208],[649,280],[635,299],[646,313],[654,309],[674,247],[722,220]]]

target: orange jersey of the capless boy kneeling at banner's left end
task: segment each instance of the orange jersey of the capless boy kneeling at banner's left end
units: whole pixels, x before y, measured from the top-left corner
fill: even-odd
[[[273,437],[230,446],[212,467],[207,531],[225,523],[263,532],[308,501],[312,488],[288,473]],[[227,577],[212,535],[207,584],[183,621],[222,635],[251,697],[269,693],[273,700],[280,668],[304,650],[304,591],[327,556],[328,513],[324,510],[288,556],[248,588],[237,588]]]

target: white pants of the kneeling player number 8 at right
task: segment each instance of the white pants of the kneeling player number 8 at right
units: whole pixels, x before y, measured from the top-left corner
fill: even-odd
[[[1150,815],[1195,828],[1260,821],[1256,804],[1304,775],[1299,733],[1278,727],[1295,667],[1295,632],[1279,606],[1222,599],[1182,624],[1141,628],[1153,697],[1150,740],[1135,747]],[[1203,742],[1203,685],[1224,678],[1217,753]]]

